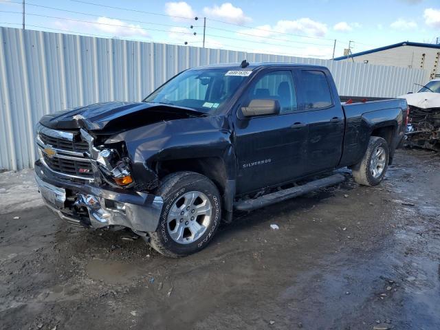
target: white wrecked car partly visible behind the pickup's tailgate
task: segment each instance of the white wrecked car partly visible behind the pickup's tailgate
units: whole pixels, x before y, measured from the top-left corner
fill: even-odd
[[[440,151],[440,79],[399,98],[410,108],[406,145]]]

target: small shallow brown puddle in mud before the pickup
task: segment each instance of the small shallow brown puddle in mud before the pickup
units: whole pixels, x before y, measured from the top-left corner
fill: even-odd
[[[90,278],[107,283],[131,283],[133,278],[143,274],[137,265],[101,259],[89,261],[85,270]]]

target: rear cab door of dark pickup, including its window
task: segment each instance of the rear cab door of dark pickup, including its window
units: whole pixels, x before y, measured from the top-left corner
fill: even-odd
[[[330,72],[325,68],[296,70],[302,109],[308,125],[305,174],[338,166],[344,140],[344,112]]]

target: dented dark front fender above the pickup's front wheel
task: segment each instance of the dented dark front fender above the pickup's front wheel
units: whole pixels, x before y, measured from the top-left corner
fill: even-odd
[[[118,142],[126,144],[133,175],[145,184],[157,181],[157,162],[202,157],[219,157],[226,179],[235,179],[231,130],[224,115],[164,120],[113,135],[105,144]]]

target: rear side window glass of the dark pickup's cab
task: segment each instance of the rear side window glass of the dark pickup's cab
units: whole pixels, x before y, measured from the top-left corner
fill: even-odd
[[[331,93],[327,77],[324,72],[303,70],[301,72],[301,86],[304,89],[305,109],[322,109],[330,107]]]

